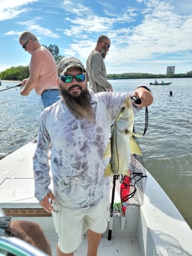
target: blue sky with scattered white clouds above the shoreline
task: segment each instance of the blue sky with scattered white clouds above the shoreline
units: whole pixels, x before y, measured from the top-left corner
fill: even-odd
[[[0,71],[29,64],[18,42],[23,31],[84,64],[106,34],[108,74],[165,74],[168,65],[176,73],[192,70],[191,0],[1,0],[0,26]]]

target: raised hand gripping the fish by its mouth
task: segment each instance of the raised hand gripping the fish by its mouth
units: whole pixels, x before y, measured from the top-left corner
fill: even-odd
[[[145,87],[138,87],[132,95],[136,95],[140,98],[141,103],[137,105],[139,108],[148,107],[153,103],[153,95]]]

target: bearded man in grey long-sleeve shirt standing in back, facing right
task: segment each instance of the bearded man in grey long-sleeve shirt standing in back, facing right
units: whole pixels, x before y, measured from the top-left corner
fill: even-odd
[[[112,85],[107,81],[107,72],[104,59],[110,49],[110,39],[102,35],[97,39],[97,45],[87,58],[87,78],[90,81],[90,89],[94,93],[112,92]]]

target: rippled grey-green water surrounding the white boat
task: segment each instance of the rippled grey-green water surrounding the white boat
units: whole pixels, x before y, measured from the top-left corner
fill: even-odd
[[[168,79],[169,86],[150,85],[154,102],[148,108],[148,131],[140,138],[146,169],[163,187],[192,228],[192,79]],[[133,91],[153,80],[110,80],[115,91]],[[0,90],[16,82],[2,82]],[[170,90],[173,96],[170,96]],[[42,111],[35,93],[21,97],[19,90],[0,92],[0,158],[37,136]],[[137,133],[143,133],[145,110],[135,117]]]

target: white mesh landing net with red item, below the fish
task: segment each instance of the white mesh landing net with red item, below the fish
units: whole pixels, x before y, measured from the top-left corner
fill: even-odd
[[[116,190],[122,203],[141,206],[147,181],[146,170],[135,156],[130,156],[130,177],[119,175]]]

